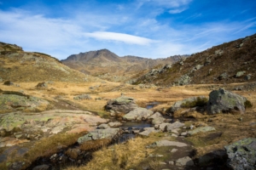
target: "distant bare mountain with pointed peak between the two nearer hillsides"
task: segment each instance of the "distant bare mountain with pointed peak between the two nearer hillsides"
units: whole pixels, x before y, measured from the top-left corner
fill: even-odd
[[[119,57],[108,49],[101,49],[73,54],[61,62],[94,77],[101,77],[113,82],[124,82],[134,77],[140,77],[154,67],[172,64],[183,57],[186,56],[177,55],[167,59],[146,59],[131,55]]]

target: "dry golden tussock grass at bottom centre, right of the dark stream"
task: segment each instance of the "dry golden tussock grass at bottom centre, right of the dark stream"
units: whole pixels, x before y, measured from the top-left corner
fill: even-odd
[[[120,170],[132,169],[151,152],[145,146],[154,142],[154,138],[130,139],[126,144],[114,144],[93,153],[93,159],[84,167],[69,167],[68,170]],[[153,163],[153,162],[152,162]]]

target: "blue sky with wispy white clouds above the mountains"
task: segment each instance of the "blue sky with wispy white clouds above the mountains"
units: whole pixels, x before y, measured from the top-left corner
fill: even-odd
[[[0,0],[0,42],[66,59],[193,54],[256,33],[255,0]]]

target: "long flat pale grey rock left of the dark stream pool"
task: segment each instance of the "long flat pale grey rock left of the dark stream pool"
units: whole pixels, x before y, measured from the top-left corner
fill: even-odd
[[[96,139],[116,139],[122,133],[119,128],[96,129],[78,139],[79,144]]]

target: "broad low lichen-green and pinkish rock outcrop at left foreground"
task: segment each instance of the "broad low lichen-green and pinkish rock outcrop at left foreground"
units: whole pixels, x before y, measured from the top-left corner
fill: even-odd
[[[54,110],[1,114],[0,122],[0,145],[10,145],[40,139],[43,137],[42,134],[47,137],[61,132],[92,131],[96,129],[98,123],[106,123],[107,120],[93,116],[89,111]]]

